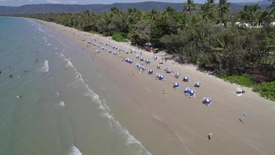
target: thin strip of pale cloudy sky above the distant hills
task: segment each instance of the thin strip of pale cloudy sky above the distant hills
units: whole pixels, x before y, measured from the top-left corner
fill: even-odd
[[[187,0],[0,0],[0,6],[22,6],[26,4],[113,4],[113,3],[135,3],[135,2],[170,2],[184,3]],[[195,3],[204,3],[206,0],[194,0]],[[229,0],[233,3],[258,2],[262,0]]]

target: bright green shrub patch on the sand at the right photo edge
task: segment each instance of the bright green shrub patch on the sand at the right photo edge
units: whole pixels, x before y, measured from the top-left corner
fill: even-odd
[[[275,81],[255,85],[253,91],[258,92],[262,97],[275,101]]]

